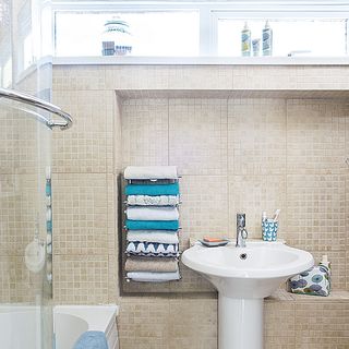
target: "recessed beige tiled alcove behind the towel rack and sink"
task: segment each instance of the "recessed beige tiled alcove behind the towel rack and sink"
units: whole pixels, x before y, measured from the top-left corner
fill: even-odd
[[[233,239],[237,212],[246,213],[250,238],[260,238],[262,210],[281,208],[280,238],[317,260],[328,254],[333,287],[346,289],[345,92],[304,91],[306,98],[299,91],[117,94],[122,166],[176,165],[182,174],[182,251],[205,234]],[[122,290],[212,291],[182,270],[179,282],[122,280]]]

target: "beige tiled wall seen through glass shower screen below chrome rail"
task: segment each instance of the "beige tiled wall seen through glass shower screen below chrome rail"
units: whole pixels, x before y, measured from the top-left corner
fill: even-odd
[[[49,130],[2,105],[0,111],[0,302],[35,302],[41,275],[24,263],[25,246],[45,228],[45,142]],[[38,216],[39,215],[39,216]]]

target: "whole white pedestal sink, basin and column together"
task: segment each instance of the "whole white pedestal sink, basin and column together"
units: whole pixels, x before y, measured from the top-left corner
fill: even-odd
[[[313,256],[281,242],[248,242],[246,248],[205,248],[182,254],[188,267],[218,290],[218,348],[263,348],[263,299],[290,276],[314,265]]]

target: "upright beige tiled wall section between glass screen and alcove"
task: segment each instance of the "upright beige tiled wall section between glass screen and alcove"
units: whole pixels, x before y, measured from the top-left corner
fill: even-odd
[[[53,101],[74,117],[71,130],[53,133],[55,299],[116,302],[116,96],[110,91],[60,91],[55,84]]]

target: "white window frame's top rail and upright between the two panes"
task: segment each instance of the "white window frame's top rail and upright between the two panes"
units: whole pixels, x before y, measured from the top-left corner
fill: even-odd
[[[349,19],[349,1],[344,0],[240,0],[240,1],[103,1],[52,0],[56,12],[100,11],[198,11],[200,57],[217,57],[218,21],[221,19]],[[347,33],[349,33],[347,21]],[[55,32],[55,31],[53,31]],[[55,35],[55,34],[53,34]],[[55,39],[53,39],[55,43]],[[347,35],[347,52],[349,37]]]

